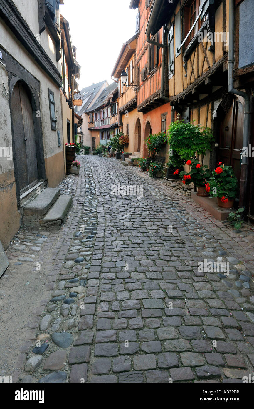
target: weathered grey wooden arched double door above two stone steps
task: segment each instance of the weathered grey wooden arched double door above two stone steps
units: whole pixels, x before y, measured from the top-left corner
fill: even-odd
[[[34,132],[34,112],[28,86],[18,81],[11,94],[12,144],[16,162],[16,185],[20,195],[39,180]]]

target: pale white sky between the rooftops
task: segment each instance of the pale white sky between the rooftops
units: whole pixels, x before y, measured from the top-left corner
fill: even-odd
[[[107,80],[120,49],[134,36],[136,10],[129,9],[131,0],[64,0],[60,13],[70,25],[71,40],[77,47],[81,66],[79,90]]]

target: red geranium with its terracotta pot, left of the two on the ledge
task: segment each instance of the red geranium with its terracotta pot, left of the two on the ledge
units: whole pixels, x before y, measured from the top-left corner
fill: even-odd
[[[210,171],[207,165],[202,166],[198,159],[187,160],[187,165],[191,166],[191,170],[187,173],[182,171],[180,177],[183,179],[183,184],[194,183],[194,190],[198,187],[197,196],[209,196],[208,181]]]

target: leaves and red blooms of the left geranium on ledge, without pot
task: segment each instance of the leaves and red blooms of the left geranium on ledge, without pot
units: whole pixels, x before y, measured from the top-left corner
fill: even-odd
[[[191,166],[191,170],[188,173],[185,171],[180,172],[180,178],[183,179],[183,184],[189,185],[190,183],[194,183],[194,187],[205,187],[211,176],[208,166],[202,166],[198,159],[187,160],[187,165]]]

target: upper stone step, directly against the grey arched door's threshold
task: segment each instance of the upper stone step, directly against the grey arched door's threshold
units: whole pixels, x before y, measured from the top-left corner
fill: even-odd
[[[31,202],[25,203],[25,205],[22,206],[22,214],[24,216],[43,216],[49,211],[59,196],[60,189],[58,187],[47,187],[31,200]]]

